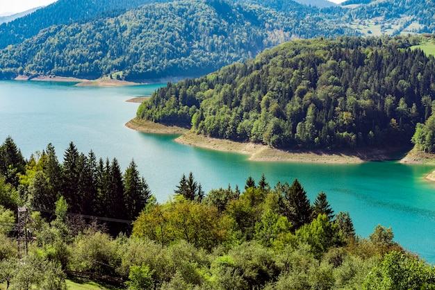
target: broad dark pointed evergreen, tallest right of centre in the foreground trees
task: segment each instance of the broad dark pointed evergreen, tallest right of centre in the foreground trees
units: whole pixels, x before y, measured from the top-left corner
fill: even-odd
[[[279,211],[286,216],[288,221],[293,224],[293,230],[297,230],[305,223],[311,222],[312,210],[310,201],[306,197],[306,191],[295,179],[291,186],[286,182],[284,185],[278,183],[279,191]]]

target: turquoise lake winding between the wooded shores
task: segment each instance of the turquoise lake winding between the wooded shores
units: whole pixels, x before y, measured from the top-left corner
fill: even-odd
[[[247,155],[210,151],[173,142],[175,135],[151,135],[126,128],[138,103],[162,84],[135,87],[75,87],[71,83],[0,81],[0,142],[13,137],[24,157],[54,144],[60,162],[74,142],[79,151],[114,157],[125,171],[132,159],[158,201],[174,193],[192,171],[205,192],[228,185],[240,189],[249,176],[264,173],[277,182],[301,182],[311,202],[320,191],[335,213],[350,212],[357,234],[368,237],[376,225],[391,226],[395,241],[435,262],[435,167],[398,162],[309,164],[253,162]]]

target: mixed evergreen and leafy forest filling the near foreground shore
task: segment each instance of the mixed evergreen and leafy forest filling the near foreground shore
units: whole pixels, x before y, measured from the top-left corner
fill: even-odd
[[[17,206],[33,240],[21,263]],[[322,191],[311,203],[297,179],[249,176],[243,190],[204,194],[189,173],[158,203],[134,162],[122,174],[116,159],[97,162],[72,143],[63,162],[51,144],[30,160],[11,137],[0,146],[7,289],[66,289],[76,275],[110,289],[434,289],[435,268],[393,238],[382,225],[357,236],[348,212],[335,213]]]

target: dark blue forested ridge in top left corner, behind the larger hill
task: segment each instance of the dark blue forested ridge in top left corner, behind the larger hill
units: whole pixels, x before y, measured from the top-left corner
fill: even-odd
[[[0,25],[0,49],[38,35],[41,29],[59,24],[83,22],[85,19],[120,15],[142,4],[165,0],[58,0],[13,22]]]

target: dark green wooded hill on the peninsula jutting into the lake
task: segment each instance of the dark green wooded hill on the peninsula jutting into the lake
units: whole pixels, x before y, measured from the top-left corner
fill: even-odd
[[[137,117],[281,148],[409,144],[432,113],[435,61],[418,37],[295,40],[169,83]]]

